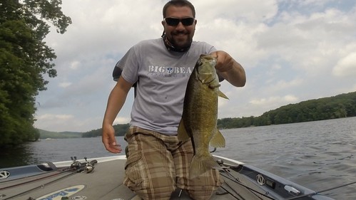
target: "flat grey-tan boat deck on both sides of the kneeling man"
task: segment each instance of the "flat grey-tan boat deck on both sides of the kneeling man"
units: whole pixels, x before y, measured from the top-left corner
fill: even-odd
[[[221,157],[215,157],[222,159]],[[124,157],[116,157],[110,161],[101,162],[94,165],[95,169],[91,173],[76,172],[73,169],[59,168],[51,172],[42,172],[21,179],[0,179],[0,199],[140,199],[130,189],[122,184],[124,176]],[[273,180],[274,185],[258,184],[254,179],[255,170],[244,167],[229,159],[224,159],[226,164],[235,166],[234,170],[225,168],[221,174],[225,183],[221,186],[211,199],[230,200],[230,199],[288,199],[300,196],[298,199],[330,199],[326,196],[315,195],[301,196],[308,194],[311,190],[302,186],[294,185],[301,194],[291,194],[280,184],[273,174],[263,174],[266,180]],[[68,166],[70,162],[56,163],[56,166]],[[227,165],[227,166],[228,166]],[[67,169],[67,171],[63,171]],[[236,170],[238,169],[238,170]],[[251,178],[252,177],[252,178]],[[269,178],[268,178],[269,177]],[[283,181],[286,181],[282,179]],[[287,184],[291,184],[287,182]],[[274,189],[271,189],[274,186]],[[268,194],[268,196],[263,196]],[[171,199],[190,199],[185,191],[176,190]]]

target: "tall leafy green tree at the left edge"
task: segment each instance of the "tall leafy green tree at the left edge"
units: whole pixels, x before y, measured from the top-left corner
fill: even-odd
[[[3,0],[0,3],[0,145],[39,137],[34,129],[36,95],[56,77],[56,58],[44,38],[50,24],[66,32],[71,19],[61,0]],[[35,137],[35,138],[34,138]]]

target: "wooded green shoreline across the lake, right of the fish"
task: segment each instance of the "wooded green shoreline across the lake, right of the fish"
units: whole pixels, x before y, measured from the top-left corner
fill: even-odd
[[[219,129],[280,125],[317,120],[330,120],[356,116],[356,92],[330,98],[306,100],[264,112],[259,117],[223,118],[218,120]]]

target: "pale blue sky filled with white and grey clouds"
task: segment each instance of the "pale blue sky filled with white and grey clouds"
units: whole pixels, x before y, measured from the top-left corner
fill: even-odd
[[[35,127],[54,132],[101,128],[118,60],[139,41],[161,37],[167,0],[63,0],[73,23],[45,41],[56,78],[36,98]],[[258,117],[305,100],[356,91],[356,1],[191,0],[195,41],[228,52],[246,72],[243,88],[227,81],[218,118]],[[130,121],[131,90],[114,124]]]

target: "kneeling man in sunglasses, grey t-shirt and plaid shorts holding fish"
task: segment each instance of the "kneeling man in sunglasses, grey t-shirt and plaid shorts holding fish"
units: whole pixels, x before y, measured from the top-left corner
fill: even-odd
[[[193,41],[196,23],[189,1],[168,1],[163,7],[162,38],[141,41],[116,65],[123,72],[108,98],[102,140],[109,152],[121,152],[112,124],[136,84],[131,127],[125,136],[124,184],[142,199],[170,199],[176,187],[188,191],[193,199],[209,199],[222,184],[215,169],[188,179],[193,145],[177,137],[185,88],[200,54],[217,56],[218,75],[232,85],[245,85],[245,71],[228,53]]]

